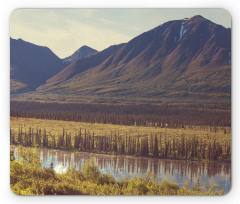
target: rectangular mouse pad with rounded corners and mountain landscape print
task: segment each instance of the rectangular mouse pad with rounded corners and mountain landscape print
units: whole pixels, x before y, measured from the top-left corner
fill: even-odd
[[[16,9],[10,92],[17,195],[230,191],[224,9]]]

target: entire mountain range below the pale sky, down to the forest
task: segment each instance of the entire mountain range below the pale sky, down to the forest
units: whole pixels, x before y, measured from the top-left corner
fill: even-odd
[[[37,50],[35,45],[25,43],[22,49]],[[19,54],[20,48],[14,46],[12,52],[11,45],[11,90],[12,80],[34,88],[12,94],[13,98],[228,106],[231,103],[231,29],[202,16],[166,22],[128,43],[100,52],[80,48],[65,59],[59,59],[48,48],[37,47],[44,54],[36,52],[35,62],[33,51]],[[30,61],[26,67],[24,60],[21,64],[12,61],[24,57]],[[42,64],[37,63],[40,57],[44,58]],[[43,65],[51,68],[44,69]],[[21,70],[41,70],[44,77],[32,84]]]

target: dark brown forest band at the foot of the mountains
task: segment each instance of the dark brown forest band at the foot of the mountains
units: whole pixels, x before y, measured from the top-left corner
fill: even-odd
[[[231,111],[182,105],[113,105],[11,101],[10,115],[89,123],[183,128],[231,126]]]

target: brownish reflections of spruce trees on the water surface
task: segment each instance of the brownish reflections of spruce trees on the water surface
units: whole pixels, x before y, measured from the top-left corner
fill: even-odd
[[[17,151],[17,150],[15,150]],[[165,175],[166,177],[188,177],[190,181],[205,175],[208,179],[216,175],[229,175],[231,179],[231,164],[226,163],[203,163],[179,160],[159,160],[141,157],[107,156],[89,153],[71,153],[59,150],[38,150],[43,158],[43,162],[56,161],[58,164],[70,167],[71,165],[82,168],[82,165],[91,159],[96,158],[100,169],[111,169],[114,174],[126,172],[129,175],[144,175],[148,170],[157,177]],[[15,152],[17,154],[17,152]],[[57,159],[56,159],[57,158]],[[49,163],[49,162],[48,162]]]

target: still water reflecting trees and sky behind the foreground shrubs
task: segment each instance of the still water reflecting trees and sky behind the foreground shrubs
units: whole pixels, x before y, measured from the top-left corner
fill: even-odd
[[[15,158],[18,159],[17,147],[14,149]],[[42,161],[42,168],[50,167],[53,162],[57,173],[65,173],[69,167],[82,169],[86,161],[94,159],[99,170],[105,174],[112,174],[116,180],[124,177],[145,176],[148,171],[156,175],[161,182],[166,179],[183,186],[189,181],[193,187],[197,178],[201,185],[217,184],[227,193],[231,188],[231,164],[229,163],[203,163],[179,160],[153,159],[132,156],[112,156],[86,152],[68,152],[61,150],[38,149]]]

